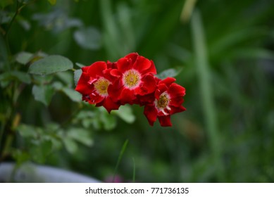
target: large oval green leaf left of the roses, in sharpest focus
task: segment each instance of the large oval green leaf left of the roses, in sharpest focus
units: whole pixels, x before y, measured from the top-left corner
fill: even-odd
[[[49,75],[69,69],[73,69],[73,63],[68,58],[53,55],[32,63],[28,72],[35,75]]]

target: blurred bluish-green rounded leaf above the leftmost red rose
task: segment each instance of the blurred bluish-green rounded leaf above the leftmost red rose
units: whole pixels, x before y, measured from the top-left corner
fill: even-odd
[[[100,49],[101,34],[94,27],[81,28],[73,34],[75,41],[84,49]]]

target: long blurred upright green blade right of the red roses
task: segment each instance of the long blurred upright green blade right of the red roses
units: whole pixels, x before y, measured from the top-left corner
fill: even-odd
[[[222,148],[218,134],[216,106],[214,105],[213,91],[211,89],[210,68],[206,42],[204,39],[204,28],[199,11],[194,11],[191,20],[195,59],[197,63],[197,74],[199,76],[202,105],[206,121],[206,130],[213,154],[213,165],[216,167],[219,182],[223,180],[223,163],[221,161]]]

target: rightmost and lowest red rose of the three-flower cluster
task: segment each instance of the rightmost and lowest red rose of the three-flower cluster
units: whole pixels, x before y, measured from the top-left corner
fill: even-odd
[[[154,125],[158,117],[162,127],[170,127],[170,115],[185,110],[182,106],[185,88],[174,82],[175,79],[172,77],[160,80],[154,94],[154,102],[144,106],[144,115],[149,120],[149,125]]]

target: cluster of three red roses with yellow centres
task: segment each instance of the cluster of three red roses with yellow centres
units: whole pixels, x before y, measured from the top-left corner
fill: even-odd
[[[75,90],[82,94],[83,101],[104,106],[108,113],[127,103],[144,106],[151,126],[157,117],[161,126],[171,126],[170,115],[185,110],[185,88],[176,84],[173,77],[156,77],[154,62],[138,53],[114,63],[97,61],[83,67]]]

